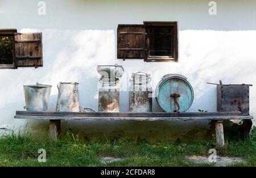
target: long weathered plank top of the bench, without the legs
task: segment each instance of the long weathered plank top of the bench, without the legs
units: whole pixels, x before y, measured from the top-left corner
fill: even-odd
[[[164,119],[172,120],[176,117],[179,119],[187,119],[187,118],[193,118],[193,119],[213,119],[216,117],[218,120],[219,118],[229,118],[229,119],[252,119],[251,116],[242,116],[241,112],[184,112],[184,113],[166,113],[166,112],[32,112],[32,111],[16,111],[15,118],[24,118],[24,116],[29,118],[45,118],[47,117],[53,119],[57,118],[65,118],[65,119],[88,119],[88,118],[100,118],[103,119],[107,118],[107,120],[113,119],[125,119],[125,118],[131,118],[133,120],[133,117],[138,120],[138,118],[142,119],[150,119],[150,118],[156,118],[156,119]],[[169,119],[168,119],[169,118]]]

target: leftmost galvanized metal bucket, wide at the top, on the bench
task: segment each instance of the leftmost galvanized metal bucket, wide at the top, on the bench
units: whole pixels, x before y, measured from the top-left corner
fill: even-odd
[[[47,111],[49,96],[51,95],[51,85],[39,84],[24,85],[24,96],[27,111]]]

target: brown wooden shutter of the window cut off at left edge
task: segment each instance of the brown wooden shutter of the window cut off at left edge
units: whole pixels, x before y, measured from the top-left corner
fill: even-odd
[[[42,33],[15,33],[16,67],[43,66]]]

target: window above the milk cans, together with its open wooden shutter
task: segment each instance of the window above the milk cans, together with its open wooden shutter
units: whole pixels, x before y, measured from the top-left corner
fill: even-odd
[[[144,22],[118,26],[118,58],[146,62],[178,60],[177,22]]]

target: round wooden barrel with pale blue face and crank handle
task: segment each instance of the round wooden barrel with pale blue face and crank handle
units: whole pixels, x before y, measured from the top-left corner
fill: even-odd
[[[177,110],[172,94],[180,95],[177,102],[180,105],[180,112],[185,112],[191,107],[194,99],[194,92],[187,78],[180,74],[167,74],[162,77],[155,90],[155,99],[165,112]]]

